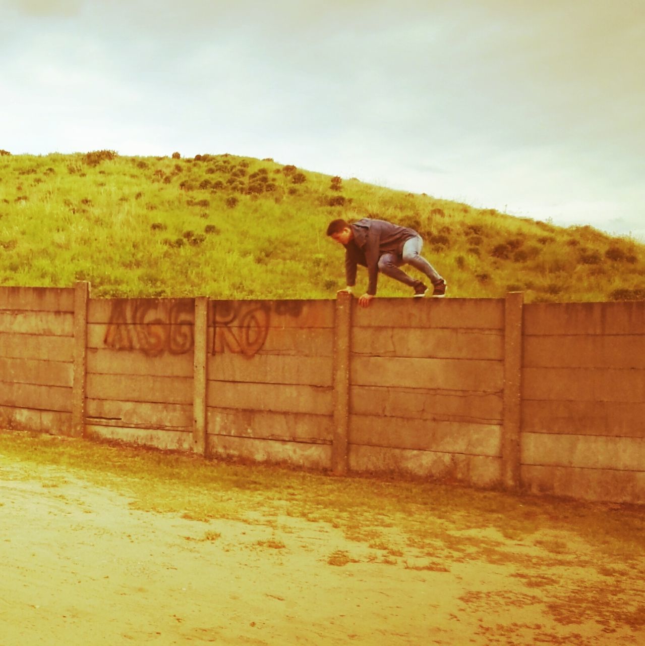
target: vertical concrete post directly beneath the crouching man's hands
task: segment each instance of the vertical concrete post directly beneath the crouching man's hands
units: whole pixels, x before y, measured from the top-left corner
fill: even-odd
[[[347,473],[351,316],[352,295],[338,293],[334,317],[334,435],[331,446],[331,468],[334,475]]]

